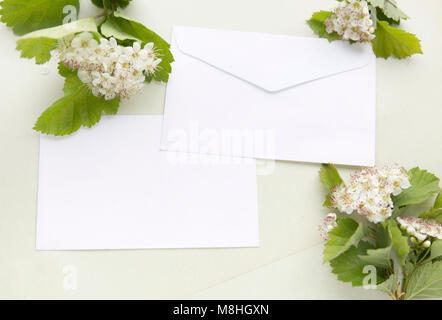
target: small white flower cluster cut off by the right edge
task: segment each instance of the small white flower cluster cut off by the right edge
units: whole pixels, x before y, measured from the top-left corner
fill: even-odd
[[[398,217],[396,220],[415,244],[428,248],[432,239],[442,240],[442,224],[436,220],[415,217]]]

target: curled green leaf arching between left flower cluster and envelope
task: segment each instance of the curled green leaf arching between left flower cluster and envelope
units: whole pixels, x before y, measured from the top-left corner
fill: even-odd
[[[169,74],[172,72],[171,63],[174,61],[170,52],[170,45],[155,32],[149,30],[139,22],[124,18],[121,14],[115,12],[101,26],[101,33],[105,37],[114,37],[118,40],[141,41],[142,44],[153,42],[161,63],[153,77],[147,78],[147,81],[156,80],[167,82]]]

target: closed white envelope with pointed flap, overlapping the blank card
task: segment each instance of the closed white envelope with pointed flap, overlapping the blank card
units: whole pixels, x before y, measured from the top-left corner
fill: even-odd
[[[369,45],[174,27],[163,150],[372,166]]]

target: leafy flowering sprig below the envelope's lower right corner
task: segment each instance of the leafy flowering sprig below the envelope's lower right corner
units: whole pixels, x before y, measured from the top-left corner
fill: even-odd
[[[326,240],[324,263],[342,282],[371,285],[395,300],[442,297],[442,192],[439,178],[419,168],[362,169],[344,182],[332,164],[320,179],[333,210],[320,227]],[[432,207],[416,204],[436,195]],[[360,217],[358,217],[360,216]]]

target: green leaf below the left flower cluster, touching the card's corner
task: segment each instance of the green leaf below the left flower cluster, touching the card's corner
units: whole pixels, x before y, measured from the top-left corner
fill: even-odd
[[[60,66],[60,74],[66,78],[64,97],[42,113],[34,130],[56,136],[71,134],[81,126],[92,127],[103,111],[115,113],[118,109],[119,98],[106,101],[94,96],[76,72]]]

